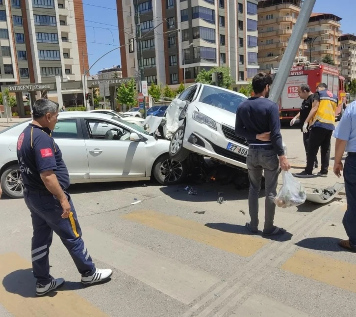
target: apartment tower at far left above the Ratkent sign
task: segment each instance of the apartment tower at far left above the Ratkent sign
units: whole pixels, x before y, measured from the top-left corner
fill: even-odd
[[[88,69],[82,0],[0,0],[0,85],[81,80]]]

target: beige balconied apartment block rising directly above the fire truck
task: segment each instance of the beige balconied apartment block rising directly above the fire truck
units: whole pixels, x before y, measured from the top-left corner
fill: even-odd
[[[340,66],[341,18],[331,13],[312,13],[306,28],[308,39],[308,59],[319,61],[327,54],[334,60],[335,66]],[[312,45],[310,46],[310,41]]]

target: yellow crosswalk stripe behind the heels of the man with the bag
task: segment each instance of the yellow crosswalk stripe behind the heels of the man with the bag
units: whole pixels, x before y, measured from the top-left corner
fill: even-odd
[[[251,235],[223,232],[208,228],[195,221],[167,216],[151,210],[137,210],[123,215],[122,218],[192,239],[242,257],[252,256],[268,243],[267,240]]]

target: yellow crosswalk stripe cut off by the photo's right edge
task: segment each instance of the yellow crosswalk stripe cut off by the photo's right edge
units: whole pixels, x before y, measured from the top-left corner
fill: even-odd
[[[281,269],[356,292],[355,264],[299,250],[281,266]]]

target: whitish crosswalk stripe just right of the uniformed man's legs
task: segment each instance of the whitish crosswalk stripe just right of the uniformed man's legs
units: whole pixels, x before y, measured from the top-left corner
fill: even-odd
[[[91,254],[118,270],[189,304],[220,281],[202,270],[192,268],[121,240],[92,227],[85,229],[85,243]],[[112,252],[107,252],[110,246]]]

